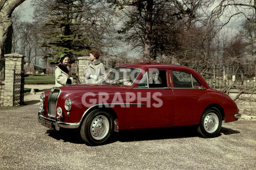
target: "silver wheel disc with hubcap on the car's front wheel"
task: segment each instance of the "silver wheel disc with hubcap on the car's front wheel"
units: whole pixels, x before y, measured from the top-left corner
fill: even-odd
[[[103,139],[109,132],[109,121],[105,116],[96,116],[90,124],[90,134],[96,140]]]

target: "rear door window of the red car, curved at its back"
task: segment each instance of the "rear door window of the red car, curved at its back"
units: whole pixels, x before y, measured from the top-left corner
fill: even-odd
[[[201,84],[192,74],[183,71],[172,71],[175,88],[200,88]]]

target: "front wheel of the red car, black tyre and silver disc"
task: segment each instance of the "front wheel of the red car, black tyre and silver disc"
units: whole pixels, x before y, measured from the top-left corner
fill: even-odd
[[[113,133],[113,117],[100,109],[94,110],[82,122],[80,134],[88,145],[102,145]]]

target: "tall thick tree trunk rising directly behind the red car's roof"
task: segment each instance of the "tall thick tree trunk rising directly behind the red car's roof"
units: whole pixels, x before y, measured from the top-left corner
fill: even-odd
[[[147,0],[146,33],[145,33],[144,55],[143,55],[144,62],[150,62],[152,60],[152,58],[150,57],[152,12],[153,12],[153,0]]]

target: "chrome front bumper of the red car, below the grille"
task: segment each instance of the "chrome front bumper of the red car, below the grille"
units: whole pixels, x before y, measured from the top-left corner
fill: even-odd
[[[39,111],[38,112],[38,122],[41,122],[41,120],[50,122],[53,126],[55,126],[56,130],[60,130],[60,128],[76,129],[76,128],[79,128],[79,125],[80,125],[80,122],[78,122],[78,123],[65,123],[65,122],[61,122],[59,120],[59,118],[56,118],[56,119],[53,120],[51,118],[44,117],[42,115],[42,111]]]

